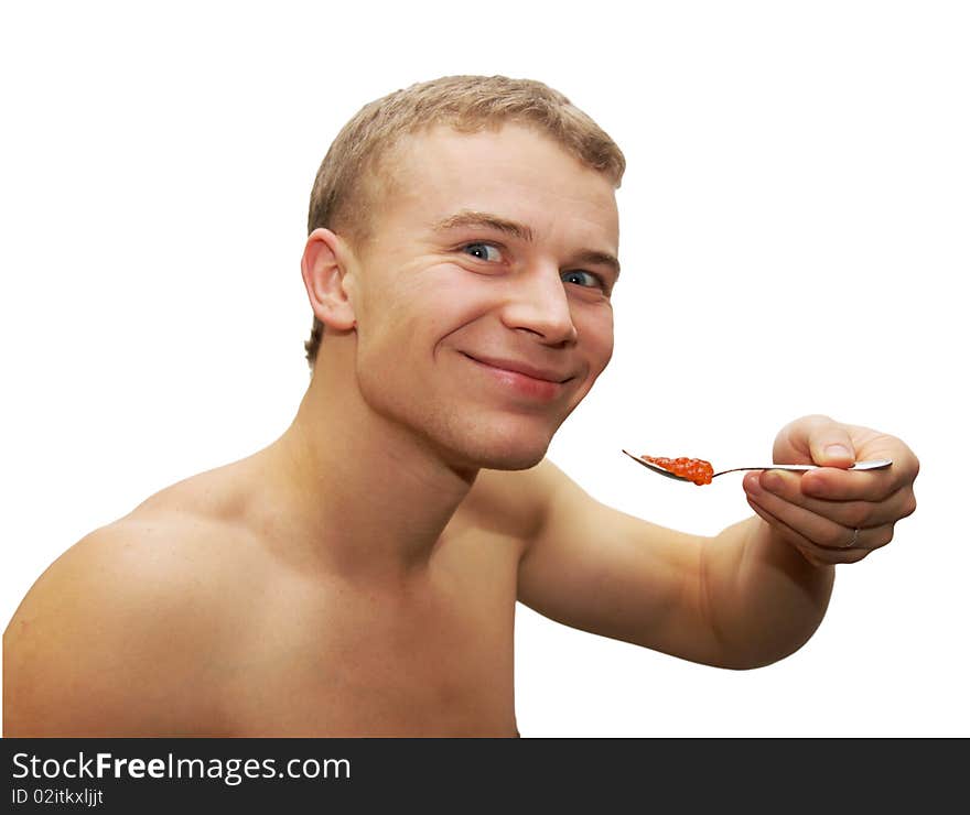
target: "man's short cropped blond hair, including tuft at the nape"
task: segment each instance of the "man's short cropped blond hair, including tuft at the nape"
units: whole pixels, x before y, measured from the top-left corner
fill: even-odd
[[[386,199],[392,172],[381,172],[401,137],[438,124],[472,133],[506,122],[531,124],[550,135],[618,188],[626,169],[619,148],[586,113],[535,79],[506,76],[445,76],[417,83],[365,105],[327,150],[310,195],[308,233],[317,227],[340,232],[357,251],[374,228],[377,202]],[[323,338],[313,317],[303,344],[311,372]]]

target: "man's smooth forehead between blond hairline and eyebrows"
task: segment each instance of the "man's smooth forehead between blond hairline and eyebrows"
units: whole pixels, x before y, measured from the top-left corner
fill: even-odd
[[[392,230],[429,230],[455,213],[495,213],[539,236],[579,232],[616,251],[618,217],[610,180],[534,128],[460,133],[435,127],[395,150]]]

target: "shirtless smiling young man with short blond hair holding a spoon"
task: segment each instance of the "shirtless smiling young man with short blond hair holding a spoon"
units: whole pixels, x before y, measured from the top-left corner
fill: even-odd
[[[623,170],[539,83],[366,106],[314,185],[293,423],[44,573],[4,635],[6,735],[516,736],[517,599],[723,667],[805,643],[834,564],[915,509],[901,441],[793,422],[775,461],[831,467],[750,474],[757,514],[716,545],[543,458],[612,354]]]

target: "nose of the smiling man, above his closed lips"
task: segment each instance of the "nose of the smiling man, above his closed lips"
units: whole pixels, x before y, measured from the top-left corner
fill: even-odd
[[[515,275],[502,312],[508,328],[538,334],[548,345],[572,345],[576,328],[557,268],[536,267]]]

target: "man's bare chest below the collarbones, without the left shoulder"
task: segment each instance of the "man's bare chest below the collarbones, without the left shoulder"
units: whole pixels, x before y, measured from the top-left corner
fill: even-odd
[[[451,541],[425,591],[280,586],[218,672],[236,736],[516,736],[518,551]]]

